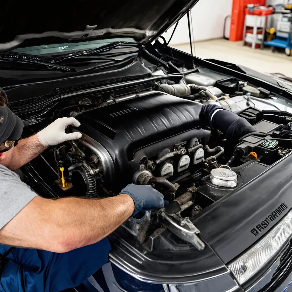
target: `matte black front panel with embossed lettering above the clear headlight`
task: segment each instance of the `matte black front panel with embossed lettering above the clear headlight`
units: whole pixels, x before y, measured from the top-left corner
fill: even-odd
[[[242,253],[266,234],[292,207],[292,155],[278,161],[221,200],[205,208],[192,221],[201,230],[201,237],[210,244],[224,263]],[[279,205],[288,208],[273,218],[256,237],[251,230]]]

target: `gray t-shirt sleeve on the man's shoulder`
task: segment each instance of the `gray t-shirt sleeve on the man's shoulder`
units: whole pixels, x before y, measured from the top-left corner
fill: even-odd
[[[0,229],[36,196],[19,175],[0,164]]]

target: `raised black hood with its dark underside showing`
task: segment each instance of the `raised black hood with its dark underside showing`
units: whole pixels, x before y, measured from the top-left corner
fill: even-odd
[[[1,4],[0,52],[20,46],[133,37],[152,41],[199,0],[7,0]]]

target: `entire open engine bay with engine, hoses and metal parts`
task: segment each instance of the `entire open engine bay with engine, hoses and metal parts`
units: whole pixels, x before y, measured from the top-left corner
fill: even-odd
[[[142,253],[203,250],[193,222],[292,148],[288,99],[236,77],[192,68],[175,53],[158,59],[157,51],[142,51],[114,71],[114,79],[105,72],[81,76],[82,86],[73,85],[75,79],[68,78],[67,87],[52,81],[39,86],[34,99],[16,99],[26,85],[9,93],[25,135],[58,117],[81,123],[66,130],[81,132],[81,139],[49,147],[25,166],[27,183],[39,193],[104,198],[134,183],[164,194],[164,208],[138,213],[111,235]]]

